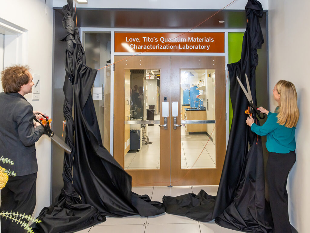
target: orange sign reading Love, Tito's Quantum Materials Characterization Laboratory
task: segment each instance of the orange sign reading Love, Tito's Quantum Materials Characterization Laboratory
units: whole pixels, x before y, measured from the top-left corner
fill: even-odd
[[[114,52],[224,53],[224,33],[115,32]]]

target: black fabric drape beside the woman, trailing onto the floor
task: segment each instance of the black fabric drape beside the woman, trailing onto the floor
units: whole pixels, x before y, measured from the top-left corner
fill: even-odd
[[[236,80],[246,86],[245,74],[256,103],[255,69],[258,65],[257,49],[263,35],[259,18],[263,16],[260,2],[246,4],[247,25],[242,42],[241,60],[228,64],[233,109],[226,157],[216,197],[203,190],[198,195],[163,197],[167,213],[184,215],[198,221],[215,222],[234,230],[271,232],[268,206],[265,206],[265,181],[261,137],[246,125],[245,110],[249,103]],[[259,124],[259,122],[255,121]],[[250,149],[249,149],[250,145]]]

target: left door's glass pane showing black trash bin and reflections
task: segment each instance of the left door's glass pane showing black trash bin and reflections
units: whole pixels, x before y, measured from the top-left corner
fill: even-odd
[[[125,169],[159,169],[160,70],[125,70]]]

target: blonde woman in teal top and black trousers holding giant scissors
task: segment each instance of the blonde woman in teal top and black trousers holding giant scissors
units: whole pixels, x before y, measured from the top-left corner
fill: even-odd
[[[246,119],[251,131],[267,136],[266,147],[267,182],[269,202],[274,224],[274,233],[292,233],[288,207],[286,181],[290,169],[296,161],[295,127],[299,118],[297,92],[293,83],[280,80],[273,88],[273,98],[278,106],[274,113],[263,107],[258,110],[268,115],[267,121],[258,126],[249,116]]]

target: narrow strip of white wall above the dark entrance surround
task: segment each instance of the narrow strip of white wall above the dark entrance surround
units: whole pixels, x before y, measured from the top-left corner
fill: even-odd
[[[102,1],[88,0],[87,4],[78,4],[76,7],[90,8],[129,8],[129,9],[222,9],[234,0],[196,0],[189,2],[188,0],[117,0]],[[244,9],[248,0],[236,0],[225,9]],[[268,0],[260,0],[263,9],[268,9]],[[63,7],[67,4],[66,0],[54,0],[53,7]],[[73,0],[74,7],[74,0]]]

